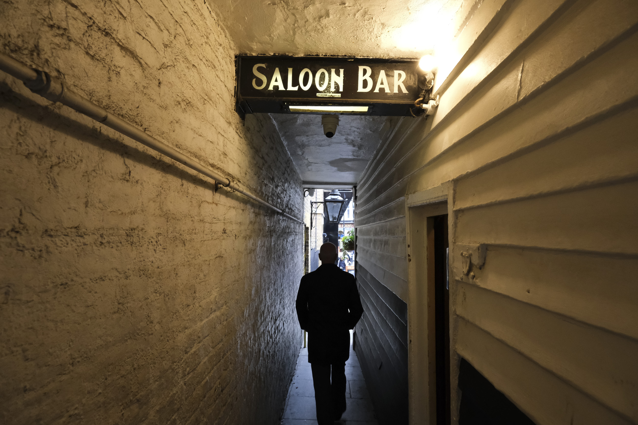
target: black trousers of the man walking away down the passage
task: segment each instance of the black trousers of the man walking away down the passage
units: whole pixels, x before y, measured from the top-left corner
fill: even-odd
[[[310,366],[313,371],[317,422],[319,425],[332,425],[346,411],[346,364],[311,363]]]

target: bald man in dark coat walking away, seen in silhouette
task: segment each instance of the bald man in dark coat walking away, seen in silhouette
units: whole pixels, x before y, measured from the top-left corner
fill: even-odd
[[[313,371],[319,425],[333,424],[346,411],[345,366],[350,357],[350,332],[363,307],[355,278],[336,266],[337,247],[324,243],[322,265],[301,278],[297,317],[308,332],[308,362]],[[332,382],[330,382],[332,375]]]

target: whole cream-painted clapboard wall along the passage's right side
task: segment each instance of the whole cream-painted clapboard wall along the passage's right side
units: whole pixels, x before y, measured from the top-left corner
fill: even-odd
[[[360,287],[408,302],[406,196],[451,182],[452,363],[538,424],[638,423],[638,2],[477,4],[436,114],[390,121],[357,186]],[[376,370],[394,317],[371,304],[358,350],[383,411],[407,354]]]

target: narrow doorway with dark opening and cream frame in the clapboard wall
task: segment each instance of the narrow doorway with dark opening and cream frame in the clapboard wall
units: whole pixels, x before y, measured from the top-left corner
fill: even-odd
[[[447,184],[406,200],[410,424],[451,422],[449,198]],[[454,288],[452,288],[454,289]]]

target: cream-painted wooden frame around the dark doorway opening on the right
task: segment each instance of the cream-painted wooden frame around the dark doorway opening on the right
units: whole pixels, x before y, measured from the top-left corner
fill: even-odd
[[[448,215],[448,240],[452,252],[454,212],[452,182],[445,182],[406,197],[406,252],[408,253],[408,418],[410,425],[435,425],[436,375],[434,374],[433,300],[428,300],[427,217]],[[432,253],[430,253],[432,255]],[[449,275],[452,276],[450,259]],[[452,339],[453,296],[450,279],[450,389],[456,387],[456,352]],[[432,365],[432,367],[431,367]],[[456,394],[450,394],[450,409],[455,411]],[[452,415],[454,424],[455,416]]]

